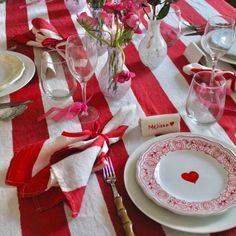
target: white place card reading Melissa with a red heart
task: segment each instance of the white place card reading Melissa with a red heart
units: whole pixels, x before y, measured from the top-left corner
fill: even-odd
[[[146,116],[140,119],[140,127],[143,136],[179,132],[180,115],[176,113]]]

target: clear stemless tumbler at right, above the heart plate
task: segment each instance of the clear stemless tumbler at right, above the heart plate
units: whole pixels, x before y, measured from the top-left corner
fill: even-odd
[[[186,101],[187,116],[200,125],[217,122],[223,115],[226,80],[212,71],[198,72],[193,76]]]

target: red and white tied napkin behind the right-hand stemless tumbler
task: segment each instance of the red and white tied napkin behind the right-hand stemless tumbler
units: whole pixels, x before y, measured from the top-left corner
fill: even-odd
[[[183,71],[188,75],[194,75],[200,71],[211,71],[212,68],[200,65],[198,63],[191,63],[183,67]],[[236,92],[236,73],[226,70],[216,70],[217,73],[222,73],[226,79],[226,86],[232,91]]]

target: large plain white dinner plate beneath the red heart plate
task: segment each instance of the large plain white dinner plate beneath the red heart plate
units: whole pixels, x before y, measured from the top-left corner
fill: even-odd
[[[190,136],[194,134],[178,133],[178,135]],[[129,157],[124,170],[124,182],[131,200],[148,217],[172,229],[190,233],[213,233],[236,227],[236,207],[232,207],[223,214],[211,215],[207,217],[177,215],[155,204],[144,194],[143,190],[139,187],[136,181],[136,164],[138,158],[140,158],[140,156],[153,143],[162,140],[163,138],[174,136],[176,136],[176,133],[153,138],[137,148],[135,152]],[[218,142],[212,138],[208,139]],[[224,146],[236,154],[235,147],[231,147],[227,144],[224,144]]]

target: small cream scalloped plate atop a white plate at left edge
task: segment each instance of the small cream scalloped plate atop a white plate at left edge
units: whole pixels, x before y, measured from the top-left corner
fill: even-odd
[[[23,74],[23,61],[7,52],[0,52],[0,89],[17,81]]]

